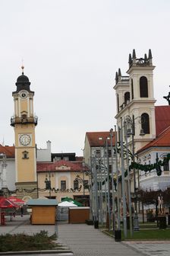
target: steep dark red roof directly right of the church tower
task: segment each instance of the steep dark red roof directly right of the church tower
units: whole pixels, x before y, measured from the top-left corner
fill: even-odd
[[[156,106],[156,136],[170,126],[170,106]]]

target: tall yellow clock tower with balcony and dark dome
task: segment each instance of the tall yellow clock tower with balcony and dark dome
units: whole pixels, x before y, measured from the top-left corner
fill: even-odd
[[[11,117],[11,126],[14,127],[15,137],[15,172],[16,189],[19,197],[37,197],[36,181],[36,142],[35,127],[37,117],[33,115],[34,91],[30,91],[30,81],[24,75],[17,78],[14,98],[14,117]]]

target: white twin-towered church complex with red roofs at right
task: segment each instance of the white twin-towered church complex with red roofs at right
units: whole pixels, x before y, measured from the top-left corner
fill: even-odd
[[[135,50],[129,55],[128,75],[122,76],[121,69],[115,75],[115,94],[117,98],[118,128],[128,137],[128,149],[134,152],[134,161],[143,165],[162,160],[169,152],[170,140],[167,137],[170,127],[170,106],[155,106],[153,86],[153,57],[151,50],[144,58],[137,58]],[[126,131],[131,131],[128,136]],[[144,132],[144,133],[143,133]],[[142,136],[141,136],[142,135]],[[169,133],[170,135],[170,133]],[[120,136],[119,136],[120,140]],[[136,171],[136,186],[143,189],[165,189],[170,187],[168,164],[162,166],[162,175],[156,169],[145,173]],[[134,175],[131,174],[132,181]],[[169,180],[169,181],[168,181]],[[139,182],[140,181],[140,182]],[[133,182],[134,183],[134,182]]]

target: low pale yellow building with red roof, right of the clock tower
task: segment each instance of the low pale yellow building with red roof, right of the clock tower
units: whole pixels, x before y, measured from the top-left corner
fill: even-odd
[[[89,205],[88,168],[82,161],[37,162],[39,197],[57,199],[71,197]]]

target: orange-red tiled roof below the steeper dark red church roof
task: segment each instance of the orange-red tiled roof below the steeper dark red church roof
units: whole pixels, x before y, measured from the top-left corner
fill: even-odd
[[[149,149],[151,147],[170,147],[170,126],[166,128],[162,133],[159,133],[159,136],[157,136],[156,139],[153,139],[152,142],[148,143],[146,146],[144,146],[142,149],[138,150],[139,152],[142,152],[144,149]]]

